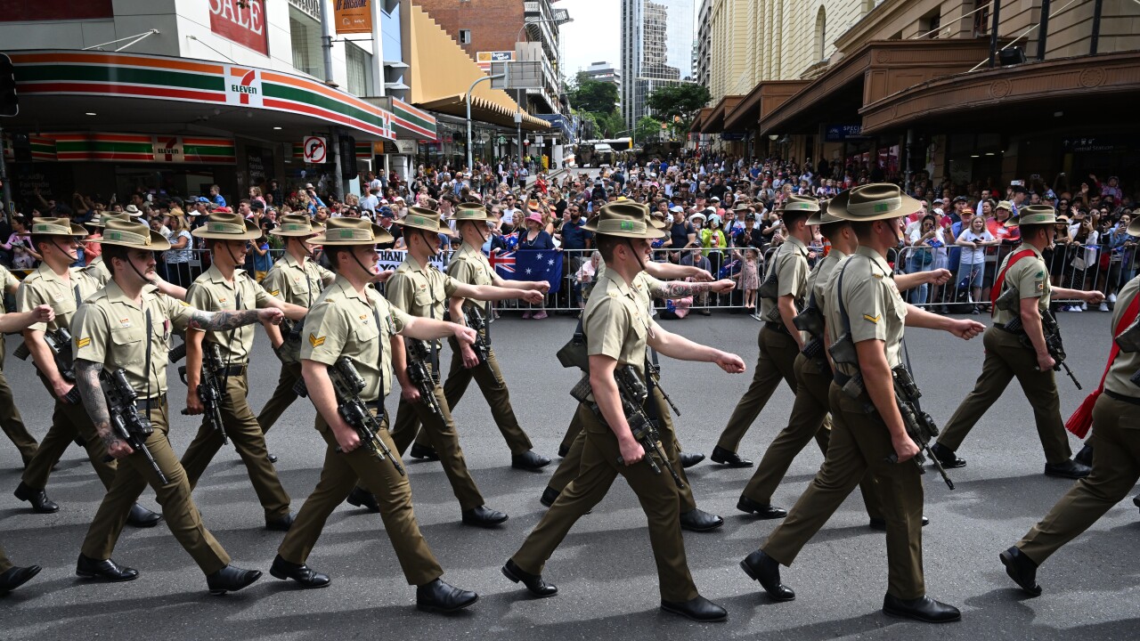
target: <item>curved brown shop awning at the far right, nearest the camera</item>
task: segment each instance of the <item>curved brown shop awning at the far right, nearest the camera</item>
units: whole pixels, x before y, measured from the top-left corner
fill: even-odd
[[[925,82],[861,112],[863,132],[937,127],[1021,131],[1073,122],[1123,122],[1140,95],[1140,51],[983,68]],[[1108,98],[1108,99],[1105,99]]]

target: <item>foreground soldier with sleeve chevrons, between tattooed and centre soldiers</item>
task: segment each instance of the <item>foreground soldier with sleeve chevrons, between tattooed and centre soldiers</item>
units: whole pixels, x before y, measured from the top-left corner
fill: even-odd
[[[375,245],[392,242],[383,227],[361,219],[332,218],[325,233],[309,242],[325,246],[337,274],[306,318],[307,336],[300,354],[309,398],[317,408],[316,428],[328,445],[320,481],[301,506],[269,571],[277,578],[292,578],[302,587],[325,587],[331,583],[327,575],[314,571],[306,561],[328,516],[359,479],[380,506],[404,576],[416,586],[416,607],[443,612],[466,608],[478,595],[440,579],[443,570],[416,524],[407,476],[397,468],[398,461],[381,460],[361,447],[365,444],[359,432],[337,411],[339,399],[328,370],[342,357],[351,360],[365,382],[360,399],[380,421],[382,429],[376,436],[394,452],[384,397],[392,386],[392,367],[399,367],[404,360],[399,335],[422,340],[453,335],[469,346],[474,331],[409,316],[368,286],[376,269]]]

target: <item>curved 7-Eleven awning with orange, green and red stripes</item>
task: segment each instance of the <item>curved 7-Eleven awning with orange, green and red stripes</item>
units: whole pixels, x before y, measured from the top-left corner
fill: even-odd
[[[396,139],[399,119],[392,111],[300,75],[127,52],[24,50],[9,56],[21,112],[6,127],[285,141],[335,125],[360,140]],[[434,122],[424,129],[434,136]]]

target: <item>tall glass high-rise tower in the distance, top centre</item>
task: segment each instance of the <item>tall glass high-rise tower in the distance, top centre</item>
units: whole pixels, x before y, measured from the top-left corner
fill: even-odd
[[[693,81],[693,0],[621,0],[621,115],[633,129],[665,84]]]

